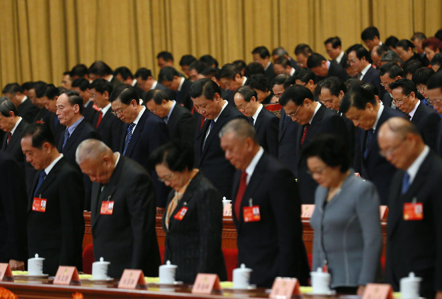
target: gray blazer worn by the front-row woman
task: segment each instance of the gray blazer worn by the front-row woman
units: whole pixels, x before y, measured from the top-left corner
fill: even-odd
[[[376,187],[352,171],[324,208],[327,193],[328,188],[316,188],[316,206],[310,218],[315,231],[312,268],[324,266],[327,260],[332,288],[376,282],[382,250]]]

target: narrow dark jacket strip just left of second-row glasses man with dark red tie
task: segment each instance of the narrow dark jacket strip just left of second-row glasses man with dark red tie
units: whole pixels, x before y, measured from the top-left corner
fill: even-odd
[[[298,160],[296,159],[296,134],[300,124],[286,116],[284,108],[281,109],[278,130],[278,159],[285,167],[290,169],[295,178],[298,178]]]

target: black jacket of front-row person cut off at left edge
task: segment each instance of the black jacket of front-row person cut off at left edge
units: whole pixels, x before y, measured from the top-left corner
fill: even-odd
[[[26,261],[27,195],[25,177],[17,161],[0,150],[0,262]]]

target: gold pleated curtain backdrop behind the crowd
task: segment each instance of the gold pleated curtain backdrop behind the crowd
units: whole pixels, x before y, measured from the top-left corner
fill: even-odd
[[[220,64],[252,60],[264,45],[298,43],[329,58],[323,42],[340,36],[343,48],[361,43],[376,26],[389,35],[427,36],[442,28],[441,0],[0,0],[0,84],[44,80],[60,85],[77,63],[104,60],[133,72],[159,72],[155,56],[211,54]]]

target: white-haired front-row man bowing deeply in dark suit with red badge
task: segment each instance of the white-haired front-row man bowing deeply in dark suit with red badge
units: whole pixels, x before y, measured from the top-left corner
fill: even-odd
[[[160,252],[155,232],[155,190],[147,171],[103,142],[83,141],[77,162],[92,184],[91,227],[96,261],[111,262],[108,275],[142,269],[157,276]],[[111,248],[111,250],[110,250]]]

